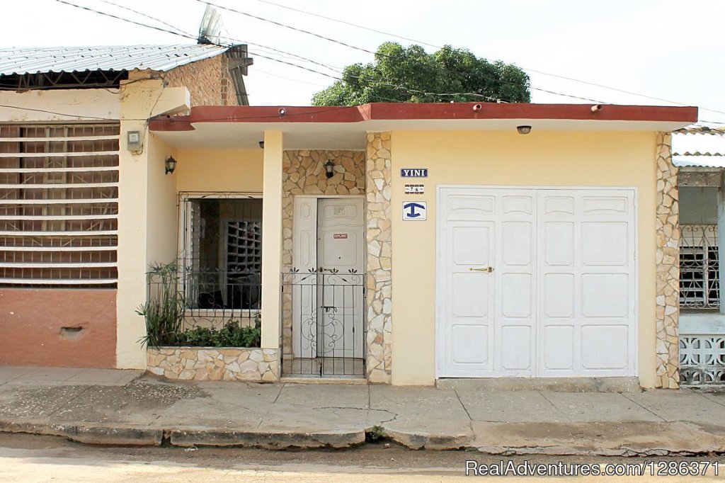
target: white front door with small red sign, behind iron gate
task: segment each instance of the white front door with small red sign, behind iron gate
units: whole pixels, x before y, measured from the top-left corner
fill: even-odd
[[[315,271],[293,293],[294,355],[362,358],[364,200],[297,197],[294,217],[294,266]]]

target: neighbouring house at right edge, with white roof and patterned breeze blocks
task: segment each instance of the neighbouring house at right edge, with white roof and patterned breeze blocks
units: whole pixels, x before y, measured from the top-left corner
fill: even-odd
[[[725,130],[689,127],[672,135],[679,168],[680,360],[682,383],[725,384]]]

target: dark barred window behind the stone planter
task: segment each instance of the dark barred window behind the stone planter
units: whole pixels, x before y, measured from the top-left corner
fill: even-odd
[[[261,305],[262,199],[182,194],[180,206],[187,306],[218,314],[242,310],[251,317]]]

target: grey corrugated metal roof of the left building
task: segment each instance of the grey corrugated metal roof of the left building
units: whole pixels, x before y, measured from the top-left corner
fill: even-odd
[[[88,70],[159,70],[209,59],[228,47],[210,44],[0,49],[0,75]]]

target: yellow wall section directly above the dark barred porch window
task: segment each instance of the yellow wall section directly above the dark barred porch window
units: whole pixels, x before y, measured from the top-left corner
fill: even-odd
[[[262,192],[264,149],[179,149],[178,191]]]

